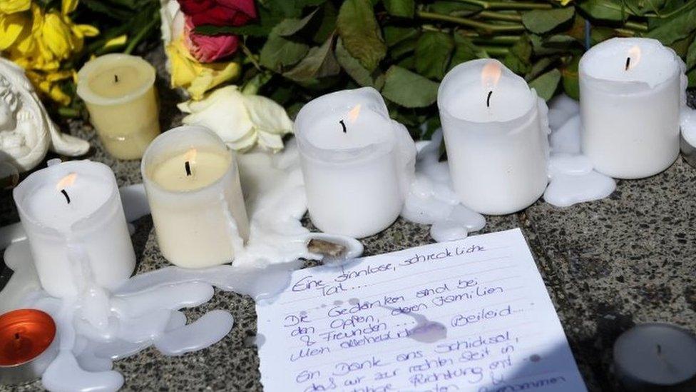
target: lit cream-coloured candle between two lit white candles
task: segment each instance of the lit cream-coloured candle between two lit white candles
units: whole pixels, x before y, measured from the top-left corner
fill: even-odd
[[[160,251],[185,268],[229,263],[249,236],[237,162],[213,131],[161,134],[140,166]]]

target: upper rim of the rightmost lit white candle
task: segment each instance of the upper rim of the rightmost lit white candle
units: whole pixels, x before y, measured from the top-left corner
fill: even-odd
[[[596,76],[593,74],[592,71],[588,71],[588,64],[591,64],[592,61],[595,61],[595,57],[600,54],[600,51],[606,50],[608,48],[611,48],[612,46],[637,46],[639,44],[643,45],[648,45],[651,46],[653,49],[661,50],[665,56],[669,55],[672,56],[672,70],[670,71],[669,74],[665,76],[664,79],[661,81],[658,81],[657,83],[650,83],[650,81],[645,81],[645,80],[640,80],[640,79],[628,79],[628,80],[620,80],[620,79],[610,79],[610,78],[605,78],[605,77],[600,77]],[[660,86],[663,86],[665,84],[669,84],[672,80],[675,78],[679,78],[680,75],[685,71],[685,66],[680,59],[679,56],[675,53],[675,51],[672,48],[669,48],[667,46],[664,46],[660,43],[660,41],[657,41],[656,39],[650,39],[650,38],[622,38],[622,37],[615,37],[613,39],[608,39],[606,41],[600,42],[599,44],[596,44],[590,50],[585,52],[585,54],[580,58],[580,63],[578,64],[578,75],[580,76],[580,80],[582,81],[587,80],[587,81],[593,81],[595,84],[597,84],[600,87],[605,87],[607,89],[612,89],[612,85],[623,85],[623,86],[647,86],[648,89],[659,89]],[[633,74],[632,74],[633,75]],[[632,94],[631,92],[627,92],[626,94]]]

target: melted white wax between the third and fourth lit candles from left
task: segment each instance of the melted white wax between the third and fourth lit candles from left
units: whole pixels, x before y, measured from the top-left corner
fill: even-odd
[[[466,238],[486,226],[483,215],[459,203],[451,186],[449,166],[439,161],[441,144],[441,130],[430,141],[416,144],[416,174],[401,211],[408,221],[432,225],[430,236],[438,242]]]

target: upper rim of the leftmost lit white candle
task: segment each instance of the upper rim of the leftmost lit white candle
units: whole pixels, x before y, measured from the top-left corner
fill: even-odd
[[[14,198],[14,203],[17,206],[17,210],[20,211],[20,216],[28,219],[37,227],[51,232],[53,235],[62,235],[61,230],[59,228],[46,225],[43,221],[41,221],[40,218],[34,216],[34,214],[31,213],[31,211],[29,211],[28,208],[24,206],[24,202],[26,198],[32,194],[32,192],[34,191],[34,189],[36,189],[37,186],[41,186],[42,184],[44,184],[44,182],[46,181],[46,177],[49,177],[57,183],[59,179],[71,173],[71,169],[73,168],[73,166],[80,167],[83,165],[90,165],[93,167],[93,169],[101,171],[103,172],[103,174],[105,174],[104,178],[106,179],[106,181],[103,182],[103,186],[110,187],[108,192],[109,196],[106,198],[106,200],[103,201],[103,203],[101,203],[96,209],[94,209],[94,211],[85,213],[83,218],[74,221],[70,226],[71,231],[79,231],[81,228],[83,228],[83,226],[86,226],[83,225],[83,223],[89,221],[93,215],[98,213],[98,211],[106,211],[108,209],[113,208],[114,198],[118,198],[118,205],[120,205],[121,196],[118,193],[118,184],[116,184],[116,177],[114,176],[111,168],[109,166],[106,166],[105,164],[102,164],[101,162],[83,159],[76,161],[61,162],[60,164],[51,165],[47,168],[41,169],[39,171],[34,171],[34,173],[29,174],[29,176],[27,176],[26,179],[24,179],[24,181],[22,181],[12,191],[12,197]],[[109,213],[116,213],[116,211],[110,211]],[[84,228],[88,228],[88,226]]]

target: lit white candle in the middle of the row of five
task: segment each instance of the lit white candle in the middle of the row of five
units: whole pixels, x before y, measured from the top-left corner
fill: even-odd
[[[362,238],[396,220],[416,148],[404,126],[389,119],[377,90],[314,99],[297,114],[295,134],[314,226]]]

